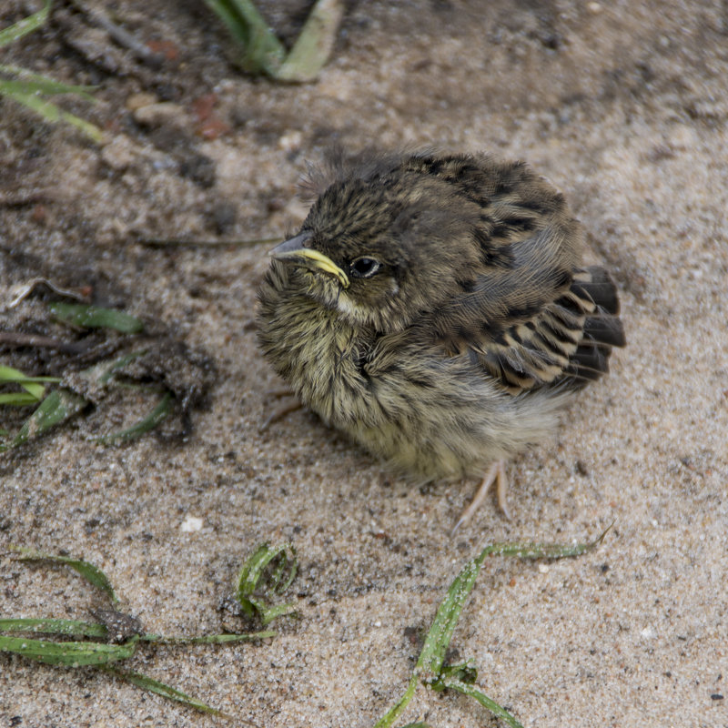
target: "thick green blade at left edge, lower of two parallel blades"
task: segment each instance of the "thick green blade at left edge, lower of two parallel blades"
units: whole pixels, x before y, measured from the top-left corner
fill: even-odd
[[[124,644],[105,642],[48,642],[0,635],[0,652],[11,652],[49,665],[82,667],[126,660],[136,652],[138,637]]]

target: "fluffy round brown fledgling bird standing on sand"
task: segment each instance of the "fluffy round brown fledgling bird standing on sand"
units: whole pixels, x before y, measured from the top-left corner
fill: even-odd
[[[330,155],[270,251],[258,345],[300,402],[412,482],[481,479],[551,439],[625,345],[617,288],[521,161],[438,150]]]

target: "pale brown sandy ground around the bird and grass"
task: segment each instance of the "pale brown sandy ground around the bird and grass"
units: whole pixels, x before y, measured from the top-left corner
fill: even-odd
[[[163,355],[168,341],[197,352],[187,368],[170,357],[162,376],[180,391],[199,378],[207,405],[193,401],[187,436],[175,420],[98,446],[95,434],[149,407],[118,397],[6,454],[0,546],[94,561],[148,632],[196,634],[243,626],[218,609],[240,562],[261,541],[293,542],[300,617],[274,640],[141,650],[131,667],[233,724],[349,728],[373,725],[403,691],[416,635],[482,544],[571,542],[615,521],[580,559],[487,561],[457,659],[473,659],[482,690],[524,726],[728,725],[726,5],[353,3],[307,86],[240,74],[202,4],[114,5],[177,58],[150,68],[59,3],[0,59],[96,84],[96,106],[66,107],[107,136],[97,146],[0,102],[0,301],[38,275],[86,287],[166,337]],[[291,5],[276,22],[295,33]],[[3,3],[0,26],[29,7]],[[204,138],[199,99],[211,93],[227,131]],[[150,101],[177,107],[140,113]],[[295,193],[307,160],[333,143],[525,159],[565,193],[589,258],[619,283],[629,346],[553,441],[511,464],[511,521],[489,502],[451,539],[474,482],[408,489],[306,411],[261,433],[280,386],[255,343],[265,245],[143,242],[282,238],[305,214]],[[3,329],[45,330],[44,306],[28,298],[0,314]],[[53,352],[0,353],[54,368]],[[197,366],[204,357],[214,369]],[[190,516],[200,530],[181,528]],[[6,551],[0,584],[4,616],[85,619],[99,603],[66,571]],[[404,717],[496,724],[462,696],[424,689]],[[101,673],[0,656],[2,725],[213,723]]]

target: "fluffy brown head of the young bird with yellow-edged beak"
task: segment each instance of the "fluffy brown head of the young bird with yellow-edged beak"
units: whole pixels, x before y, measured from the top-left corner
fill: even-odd
[[[316,200],[271,256],[297,268],[304,293],[352,326],[394,332],[474,277],[467,209],[450,212],[437,180],[349,178]]]

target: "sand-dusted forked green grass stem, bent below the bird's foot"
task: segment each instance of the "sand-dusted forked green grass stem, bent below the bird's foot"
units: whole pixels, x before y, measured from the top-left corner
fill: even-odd
[[[511,728],[522,728],[511,713],[508,713],[498,703],[492,701],[488,696],[472,688],[466,682],[459,679],[463,668],[446,671],[443,668],[445,652],[447,651],[452,633],[460,619],[460,612],[463,605],[472,591],[475,580],[478,578],[480,567],[488,556],[519,556],[522,559],[563,559],[570,556],[579,556],[582,553],[595,549],[603,540],[604,536],[612,528],[610,525],[602,534],[590,543],[577,543],[570,546],[552,543],[494,543],[486,546],[474,559],[468,561],[450,584],[450,589],[445,599],[440,604],[435,619],[432,622],[430,631],[425,637],[420,657],[412,671],[410,682],[405,693],[399,698],[389,711],[379,719],[375,728],[389,728],[394,724],[399,715],[404,712],[410,700],[414,696],[417,685],[422,680],[425,684],[443,690],[450,686],[459,690],[460,693],[469,694],[471,697],[488,708],[491,713],[498,715],[507,721]],[[468,668],[471,669],[471,668]],[[444,674],[443,674],[444,672]],[[473,676],[473,680],[474,680]],[[477,693],[477,694],[476,694]]]

